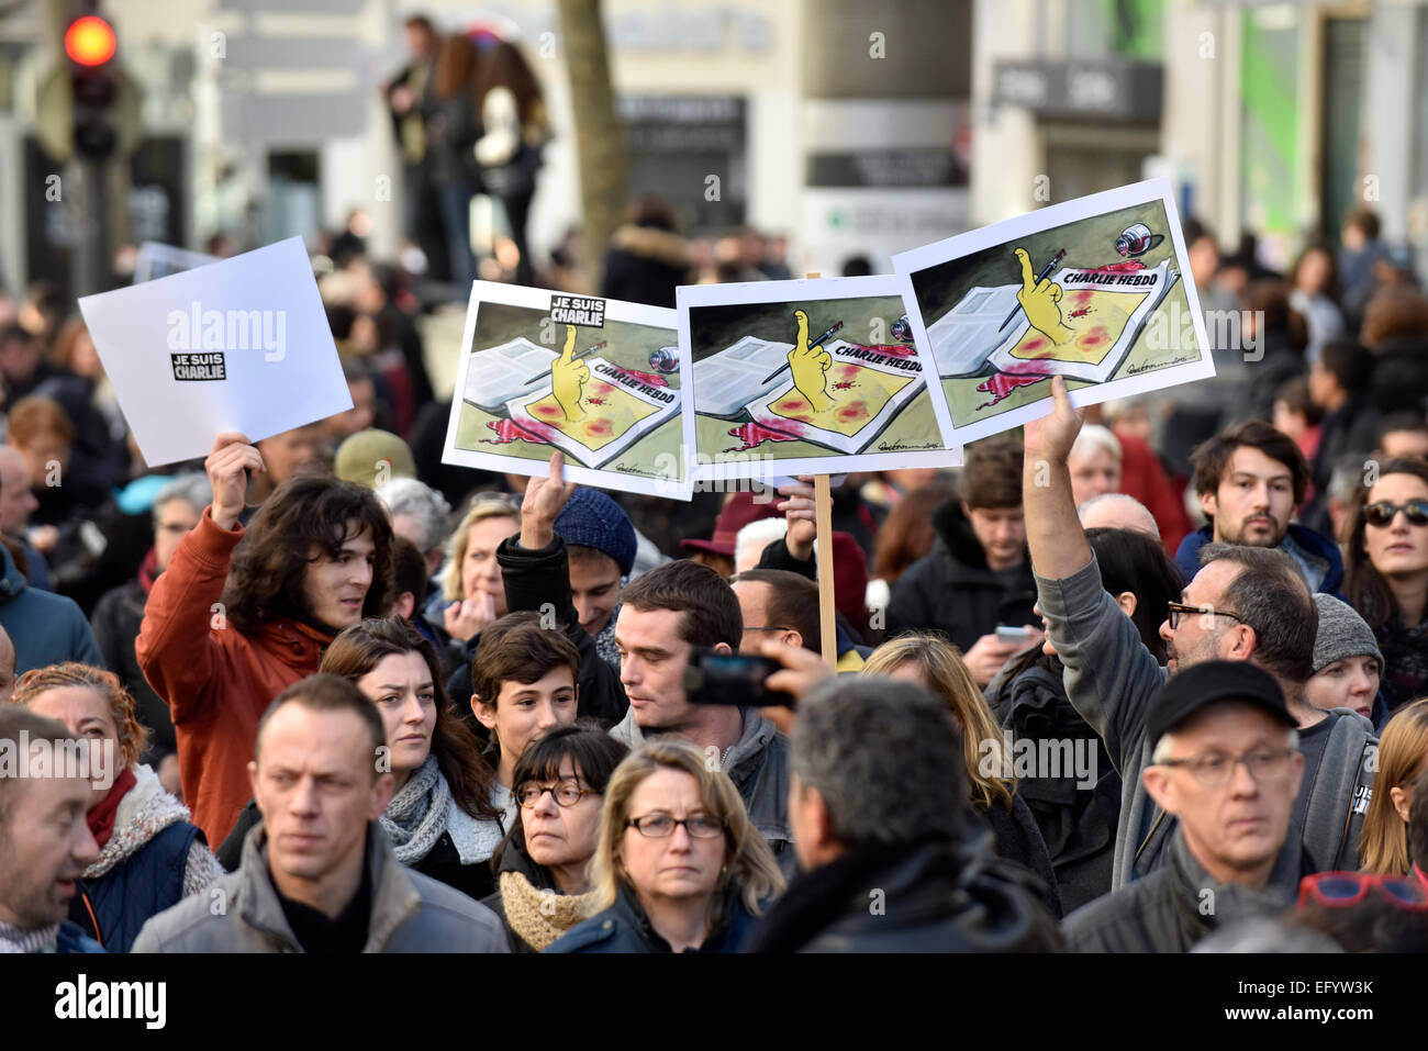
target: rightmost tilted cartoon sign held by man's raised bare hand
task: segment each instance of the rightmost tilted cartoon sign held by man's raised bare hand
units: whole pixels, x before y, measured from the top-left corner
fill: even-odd
[[[1054,204],[892,257],[952,437],[1214,376],[1167,180]]]

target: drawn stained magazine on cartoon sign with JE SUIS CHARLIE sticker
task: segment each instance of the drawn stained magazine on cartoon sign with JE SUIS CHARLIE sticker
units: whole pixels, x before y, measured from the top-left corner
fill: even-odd
[[[490,351],[486,351],[490,353]],[[575,420],[555,400],[550,380],[530,394],[506,404],[521,430],[598,468],[641,437],[680,413],[680,391],[655,387],[603,357],[585,360],[590,381],[580,396],[583,414]]]

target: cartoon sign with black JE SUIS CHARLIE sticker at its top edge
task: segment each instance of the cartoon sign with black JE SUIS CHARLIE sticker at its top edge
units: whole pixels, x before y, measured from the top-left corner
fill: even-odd
[[[441,460],[688,500],[674,311],[477,281]]]

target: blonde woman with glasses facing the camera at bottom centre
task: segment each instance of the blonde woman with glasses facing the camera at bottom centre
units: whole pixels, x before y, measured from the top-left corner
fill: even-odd
[[[784,888],[728,774],[684,741],[651,741],[605,787],[597,904],[547,952],[737,952]]]

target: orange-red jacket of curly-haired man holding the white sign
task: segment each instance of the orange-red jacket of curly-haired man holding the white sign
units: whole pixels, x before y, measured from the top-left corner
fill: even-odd
[[[184,804],[193,823],[223,843],[253,797],[248,760],[258,718],[284,688],[317,671],[331,635],[273,621],[246,635],[221,608],[233,548],[243,527],[224,531],[204,508],[154,581],[134,654],[173,714]]]

